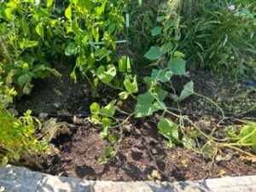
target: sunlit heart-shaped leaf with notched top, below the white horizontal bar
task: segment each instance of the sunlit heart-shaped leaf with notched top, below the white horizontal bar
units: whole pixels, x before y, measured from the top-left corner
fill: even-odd
[[[107,66],[107,71],[105,71],[104,66],[100,66],[96,70],[96,75],[103,83],[108,84],[116,75],[116,68],[113,65]]]

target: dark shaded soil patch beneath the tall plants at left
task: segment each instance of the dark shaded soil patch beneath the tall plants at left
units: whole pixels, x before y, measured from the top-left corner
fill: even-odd
[[[90,100],[85,80],[77,84],[70,78],[73,68],[66,63],[56,63],[55,69],[62,77],[51,76],[49,79],[38,79],[29,96],[23,96],[16,103],[19,112],[31,109],[33,113],[77,114],[88,110]],[[79,73],[78,73],[79,74]]]

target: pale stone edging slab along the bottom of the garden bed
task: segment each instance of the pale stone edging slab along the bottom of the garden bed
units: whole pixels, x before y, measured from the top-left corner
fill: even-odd
[[[0,192],[256,192],[256,176],[222,177],[186,182],[84,181],[31,172],[17,166],[0,167]]]

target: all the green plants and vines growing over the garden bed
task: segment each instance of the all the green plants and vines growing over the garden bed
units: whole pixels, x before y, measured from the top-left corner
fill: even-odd
[[[126,4],[128,3],[128,4]],[[128,6],[128,7],[127,7]],[[117,54],[117,40],[125,34],[125,13],[131,9],[131,47],[137,49],[133,64]],[[215,160],[222,148],[232,148],[250,157],[255,153],[256,126],[252,121],[226,126],[216,137],[181,113],[180,102],[191,95],[211,102],[227,119],[222,108],[194,90],[191,80],[177,91],[172,78],[187,75],[188,68],[203,68],[232,75],[255,71],[255,3],[250,1],[142,1],[90,0],[0,1],[0,158],[3,164],[20,162],[40,166],[38,158],[49,146],[40,141],[40,122],[28,111],[17,118],[6,110],[14,96],[30,94],[33,79],[50,74],[61,77],[53,60],[73,63],[71,78],[80,73],[90,84],[91,96],[99,96],[99,84],[118,91],[106,105],[93,102],[89,120],[102,125],[101,136],[110,145],[99,163],[108,163],[122,140],[123,125],[131,118],[159,114],[157,127],[166,137],[166,147],[178,144]],[[139,63],[138,63],[139,62]],[[151,73],[139,77],[134,66]],[[141,89],[146,84],[146,89]],[[112,97],[112,96],[111,96]],[[177,108],[169,106],[166,98]],[[133,100],[133,112],[118,108],[118,102]],[[116,112],[125,119],[115,117]],[[175,118],[176,121],[171,120]],[[190,128],[189,128],[190,127]],[[191,128],[192,127],[192,128]],[[111,128],[119,128],[119,136]],[[191,131],[192,129],[193,131]],[[201,140],[201,143],[198,140]],[[245,148],[250,148],[246,150]]]

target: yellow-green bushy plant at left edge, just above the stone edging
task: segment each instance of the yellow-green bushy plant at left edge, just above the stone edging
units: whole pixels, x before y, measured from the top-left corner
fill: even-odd
[[[39,142],[35,132],[41,124],[38,119],[31,117],[31,111],[27,111],[23,117],[15,118],[11,114],[0,110],[0,160],[2,165],[9,163],[22,163],[41,168],[40,154],[44,154],[49,148],[48,144]]]

